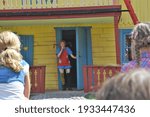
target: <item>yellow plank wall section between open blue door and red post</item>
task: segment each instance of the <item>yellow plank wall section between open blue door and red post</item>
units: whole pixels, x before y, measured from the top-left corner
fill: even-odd
[[[101,24],[92,28],[94,65],[116,64],[114,25]]]

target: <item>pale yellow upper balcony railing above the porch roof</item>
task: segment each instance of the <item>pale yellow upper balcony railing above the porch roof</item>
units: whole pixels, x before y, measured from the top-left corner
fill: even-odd
[[[119,0],[0,0],[0,9],[65,8],[117,5]]]

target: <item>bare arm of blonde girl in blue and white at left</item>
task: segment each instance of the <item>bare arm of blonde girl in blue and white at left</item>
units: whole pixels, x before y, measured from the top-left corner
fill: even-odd
[[[29,72],[28,72],[25,76],[25,85],[24,85],[24,95],[28,99],[30,97],[30,89],[31,89],[30,75],[29,75]]]

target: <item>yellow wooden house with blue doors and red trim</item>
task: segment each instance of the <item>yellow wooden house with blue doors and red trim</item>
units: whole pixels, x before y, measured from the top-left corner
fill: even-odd
[[[140,21],[150,19],[148,3],[132,0]],[[72,84],[83,89],[84,65],[127,61],[124,38],[134,24],[123,10],[127,10],[123,0],[1,0],[0,31],[11,30],[20,36],[24,59],[32,68],[39,67],[32,72],[36,77],[32,86],[39,90],[61,88],[56,49],[61,39],[66,40],[77,56],[71,60]],[[38,79],[40,72],[45,80]]]

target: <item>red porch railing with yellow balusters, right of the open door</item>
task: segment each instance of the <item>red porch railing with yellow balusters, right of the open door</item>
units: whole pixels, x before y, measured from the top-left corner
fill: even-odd
[[[120,66],[84,66],[84,92],[97,91],[105,80],[120,72]]]

